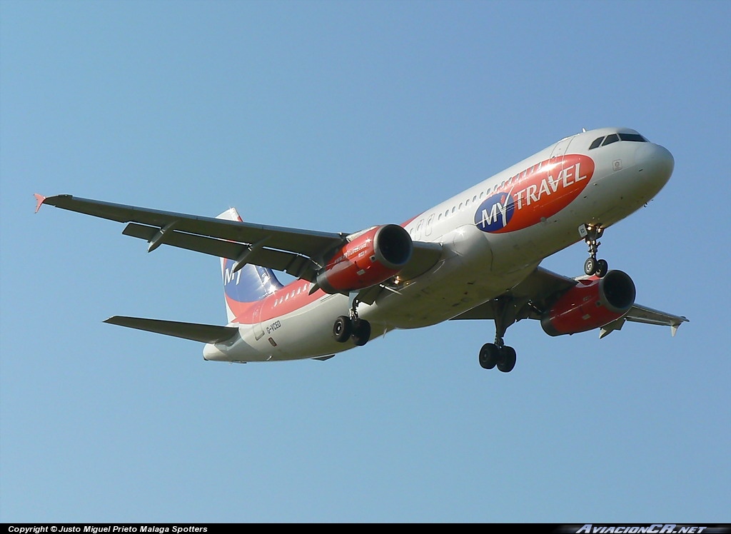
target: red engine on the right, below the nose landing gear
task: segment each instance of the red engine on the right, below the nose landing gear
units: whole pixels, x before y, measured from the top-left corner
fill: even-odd
[[[635,294],[635,282],[622,271],[579,280],[545,312],[541,326],[549,336],[601,328],[628,312]]]

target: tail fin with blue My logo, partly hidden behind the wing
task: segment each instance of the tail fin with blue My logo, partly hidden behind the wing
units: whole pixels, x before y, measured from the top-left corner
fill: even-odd
[[[229,208],[216,219],[241,221],[236,208]],[[247,263],[238,271],[233,271],[234,260],[221,257],[221,275],[224,282],[224,296],[226,298],[226,314],[228,322],[234,322],[249,304],[260,301],[276,290],[284,287],[270,268],[255,266]]]

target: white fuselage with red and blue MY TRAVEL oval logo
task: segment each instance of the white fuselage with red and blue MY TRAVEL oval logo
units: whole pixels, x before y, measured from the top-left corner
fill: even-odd
[[[607,128],[565,138],[403,225],[414,241],[439,243],[444,254],[425,274],[358,306],[372,337],[440,323],[496,298],[545,257],[580,241],[580,225],[609,227],[651,200],[670,177],[673,157],[647,142],[589,150],[595,138],[617,132],[637,134]],[[204,358],[288,360],[354,347],[332,336],[333,321],[348,315],[352,296],[322,290],[309,296],[310,287],[297,280],[267,297],[259,319],[230,324],[239,335],[206,345]],[[286,312],[278,315],[279,306]]]

